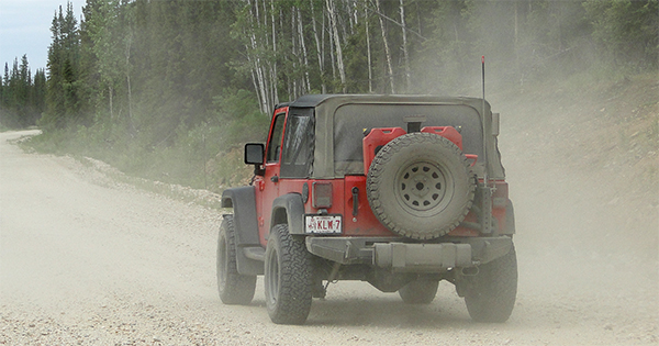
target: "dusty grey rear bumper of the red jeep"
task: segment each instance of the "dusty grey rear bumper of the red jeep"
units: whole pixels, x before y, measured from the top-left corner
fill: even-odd
[[[399,237],[306,237],[310,253],[343,265],[417,272],[474,267],[507,254],[512,246],[509,236],[451,237],[423,244]]]

